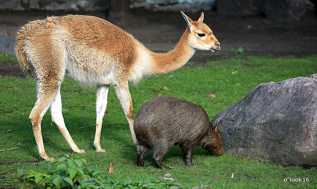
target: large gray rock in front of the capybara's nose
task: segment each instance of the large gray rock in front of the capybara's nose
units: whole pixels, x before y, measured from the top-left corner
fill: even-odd
[[[225,153],[282,165],[317,166],[317,79],[263,83],[218,113]]]

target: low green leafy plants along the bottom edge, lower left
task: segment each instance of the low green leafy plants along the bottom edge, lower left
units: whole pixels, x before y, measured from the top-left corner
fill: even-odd
[[[60,162],[55,166],[54,164]],[[139,178],[138,181],[125,180],[120,181],[113,179],[96,169],[85,168],[84,159],[70,159],[62,157],[54,160],[49,164],[40,164],[39,166],[46,170],[47,173],[39,173],[33,170],[18,169],[17,172],[21,176],[19,180],[21,188],[171,188],[181,189],[184,188],[178,183],[173,183],[171,180],[156,180],[153,177]],[[200,186],[196,188],[204,188]]]

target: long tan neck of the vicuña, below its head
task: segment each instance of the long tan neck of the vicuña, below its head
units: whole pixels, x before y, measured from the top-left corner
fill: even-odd
[[[194,55],[196,50],[188,45],[188,35],[190,34],[187,28],[179,40],[177,46],[167,53],[150,52],[151,60],[148,63],[147,75],[162,75],[186,64],[189,59]]]

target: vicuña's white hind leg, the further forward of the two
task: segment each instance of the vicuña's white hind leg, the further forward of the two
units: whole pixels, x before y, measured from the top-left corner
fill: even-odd
[[[51,104],[51,116],[52,121],[57,125],[57,128],[61,131],[61,134],[66,139],[67,143],[69,144],[70,148],[77,153],[85,153],[85,150],[81,150],[77,147],[77,145],[74,143],[72,137],[70,136],[64,122],[64,118],[61,112],[61,92],[60,92],[61,86],[59,86],[58,91],[55,95],[55,98]]]

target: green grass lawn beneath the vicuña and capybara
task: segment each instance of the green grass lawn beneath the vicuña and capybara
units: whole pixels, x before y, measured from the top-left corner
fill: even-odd
[[[14,61],[14,60],[13,60]],[[161,93],[199,104],[208,113],[210,120],[221,110],[229,107],[257,85],[264,82],[279,82],[285,79],[307,76],[317,72],[317,56],[307,58],[234,57],[209,61],[204,66],[189,62],[172,73],[144,78],[138,85],[130,84],[134,115],[142,104]],[[166,86],[168,89],[163,89]],[[215,94],[216,98],[208,98]],[[38,154],[29,113],[36,101],[35,82],[31,77],[0,77],[0,172],[9,169],[33,169],[41,171],[34,163],[46,163]],[[86,167],[108,171],[110,162],[114,167],[111,176],[120,180],[138,180],[139,177],[157,177],[170,173],[175,182],[184,187],[207,185],[211,188],[315,188],[316,168],[282,167],[244,157],[222,155],[213,157],[202,148],[193,153],[197,167],[186,167],[179,147],[172,147],[163,158],[171,170],[159,170],[152,161],[152,150],[145,156],[148,167],[136,164],[136,149],[123,109],[110,87],[107,112],[103,123],[100,144],[105,153],[94,151],[95,89],[84,89],[76,82],[65,78],[61,85],[63,116],[65,124],[80,149],[85,154],[76,154],[87,160]],[[119,124],[120,123],[120,124]],[[87,126],[79,129],[80,127]],[[10,130],[9,132],[7,132]],[[2,132],[1,132],[2,131]],[[42,120],[42,135],[49,157],[71,155],[72,151],[56,125],[51,122],[49,111]],[[233,178],[231,178],[233,173]],[[16,172],[0,175],[0,187],[17,186]],[[309,182],[284,182],[287,177],[307,178]]]

